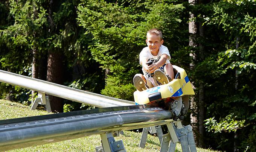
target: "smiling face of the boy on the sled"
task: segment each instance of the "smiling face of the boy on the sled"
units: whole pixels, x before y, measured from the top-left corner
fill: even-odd
[[[159,35],[157,36],[157,35],[148,34],[146,43],[152,55],[156,56],[160,46],[163,44],[163,40],[160,39]]]

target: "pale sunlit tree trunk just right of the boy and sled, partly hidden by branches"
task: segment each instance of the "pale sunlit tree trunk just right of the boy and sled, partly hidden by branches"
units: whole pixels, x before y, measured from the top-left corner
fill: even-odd
[[[197,2],[196,0],[189,0],[189,4],[193,5],[193,6],[195,5],[196,2]],[[194,18],[195,18],[195,15],[192,12],[189,12],[189,33],[190,33],[189,46],[191,46],[191,47],[197,47],[197,44],[195,42],[195,36],[196,36],[196,33],[197,33],[197,24],[196,24]],[[193,59],[196,58],[195,54],[193,54],[193,53],[190,53],[190,56],[192,56]],[[190,68],[192,68],[192,69],[194,68],[194,63],[190,63]],[[192,83],[192,87],[195,90],[193,82],[191,82],[191,83]],[[198,139],[199,139],[199,128],[198,128],[198,118],[197,118],[197,116],[198,116],[197,107],[198,107],[197,102],[192,97],[190,99],[190,109],[191,109],[190,123],[191,123],[191,126],[193,128],[195,143],[198,146],[198,144],[199,144],[199,141],[198,141]]]

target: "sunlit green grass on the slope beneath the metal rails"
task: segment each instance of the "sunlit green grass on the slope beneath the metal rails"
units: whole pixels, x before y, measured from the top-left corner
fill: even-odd
[[[46,111],[30,110],[29,106],[8,100],[0,100],[0,120],[39,116],[49,114]],[[160,143],[157,137],[148,135],[145,148],[139,148],[141,133],[124,131],[124,135],[115,137],[115,140],[123,140],[123,144],[127,152],[158,152],[160,151]],[[95,152],[95,147],[101,145],[100,135],[88,136],[73,140],[61,141],[56,143],[38,145],[22,149],[10,150],[11,152]],[[177,152],[181,152],[181,146],[176,146]],[[211,149],[197,148],[198,152],[216,152]]]

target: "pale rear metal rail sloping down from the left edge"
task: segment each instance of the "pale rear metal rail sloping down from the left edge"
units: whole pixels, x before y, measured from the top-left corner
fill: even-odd
[[[70,88],[64,85],[54,84],[52,82],[30,78],[27,76],[22,76],[20,74],[15,74],[3,70],[0,70],[0,82],[17,85],[19,87],[50,94],[52,96],[61,97],[80,103],[85,103],[87,105],[92,105],[99,108],[135,105],[134,102],[128,100],[103,96],[100,94]]]

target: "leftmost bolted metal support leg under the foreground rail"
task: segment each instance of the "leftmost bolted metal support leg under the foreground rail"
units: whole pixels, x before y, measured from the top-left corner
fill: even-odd
[[[104,152],[126,152],[123,141],[115,141],[112,133],[101,134],[101,143]],[[96,152],[99,150],[102,152],[100,146],[96,147]]]

